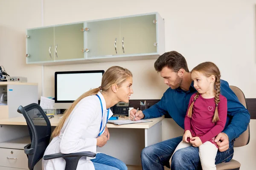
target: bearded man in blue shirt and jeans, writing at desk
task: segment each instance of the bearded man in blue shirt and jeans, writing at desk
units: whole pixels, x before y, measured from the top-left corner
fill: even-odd
[[[142,111],[133,109],[130,119],[149,119],[169,114],[175,122],[184,129],[184,118],[189,105],[189,99],[196,92],[191,79],[186,59],[176,51],[166,52],[154,63],[154,68],[160,72],[164,83],[170,88],[162,99],[150,108]],[[215,164],[230,161],[233,158],[234,139],[243,133],[250,122],[250,114],[239,102],[226,81],[221,80],[221,94],[227,98],[227,122],[224,130],[215,138],[218,153]],[[164,170],[169,167],[169,160],[182,141],[182,136],[168,139],[145,147],[141,152],[143,170]],[[186,149],[186,152],[184,152]],[[196,170],[201,167],[198,147],[186,147],[177,150],[172,156],[172,170]]]

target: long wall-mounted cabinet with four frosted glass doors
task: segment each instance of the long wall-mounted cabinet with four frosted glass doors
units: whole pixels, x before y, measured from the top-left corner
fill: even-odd
[[[158,13],[27,30],[27,64],[157,59],[165,52]]]

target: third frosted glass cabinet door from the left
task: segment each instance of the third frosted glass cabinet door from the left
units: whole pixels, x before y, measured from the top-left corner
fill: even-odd
[[[120,19],[87,22],[87,59],[121,54]]]

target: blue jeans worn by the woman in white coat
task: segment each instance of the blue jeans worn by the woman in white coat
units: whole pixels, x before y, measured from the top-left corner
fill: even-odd
[[[91,159],[95,170],[127,170],[124,162],[105,153],[97,153],[95,159]]]

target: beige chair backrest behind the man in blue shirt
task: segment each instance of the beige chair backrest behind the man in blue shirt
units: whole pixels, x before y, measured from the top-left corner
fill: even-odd
[[[246,100],[244,93],[241,91],[240,88],[230,85],[231,90],[236,94],[237,98],[239,99],[239,102],[244,105],[245,108],[247,108]],[[238,138],[236,138],[234,142],[234,147],[240,147],[247,145],[250,141],[250,126],[248,124],[247,130],[244,131]]]

